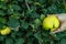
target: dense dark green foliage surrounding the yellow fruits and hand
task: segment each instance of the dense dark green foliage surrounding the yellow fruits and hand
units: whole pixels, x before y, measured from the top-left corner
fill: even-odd
[[[66,44],[66,32],[50,34],[42,26],[46,14],[66,13],[66,0],[0,0],[0,28],[12,32],[0,34],[1,44]]]

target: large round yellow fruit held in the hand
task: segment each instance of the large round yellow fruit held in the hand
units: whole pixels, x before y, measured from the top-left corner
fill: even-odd
[[[55,15],[48,15],[43,21],[43,28],[45,30],[55,31],[59,26],[59,20]]]

